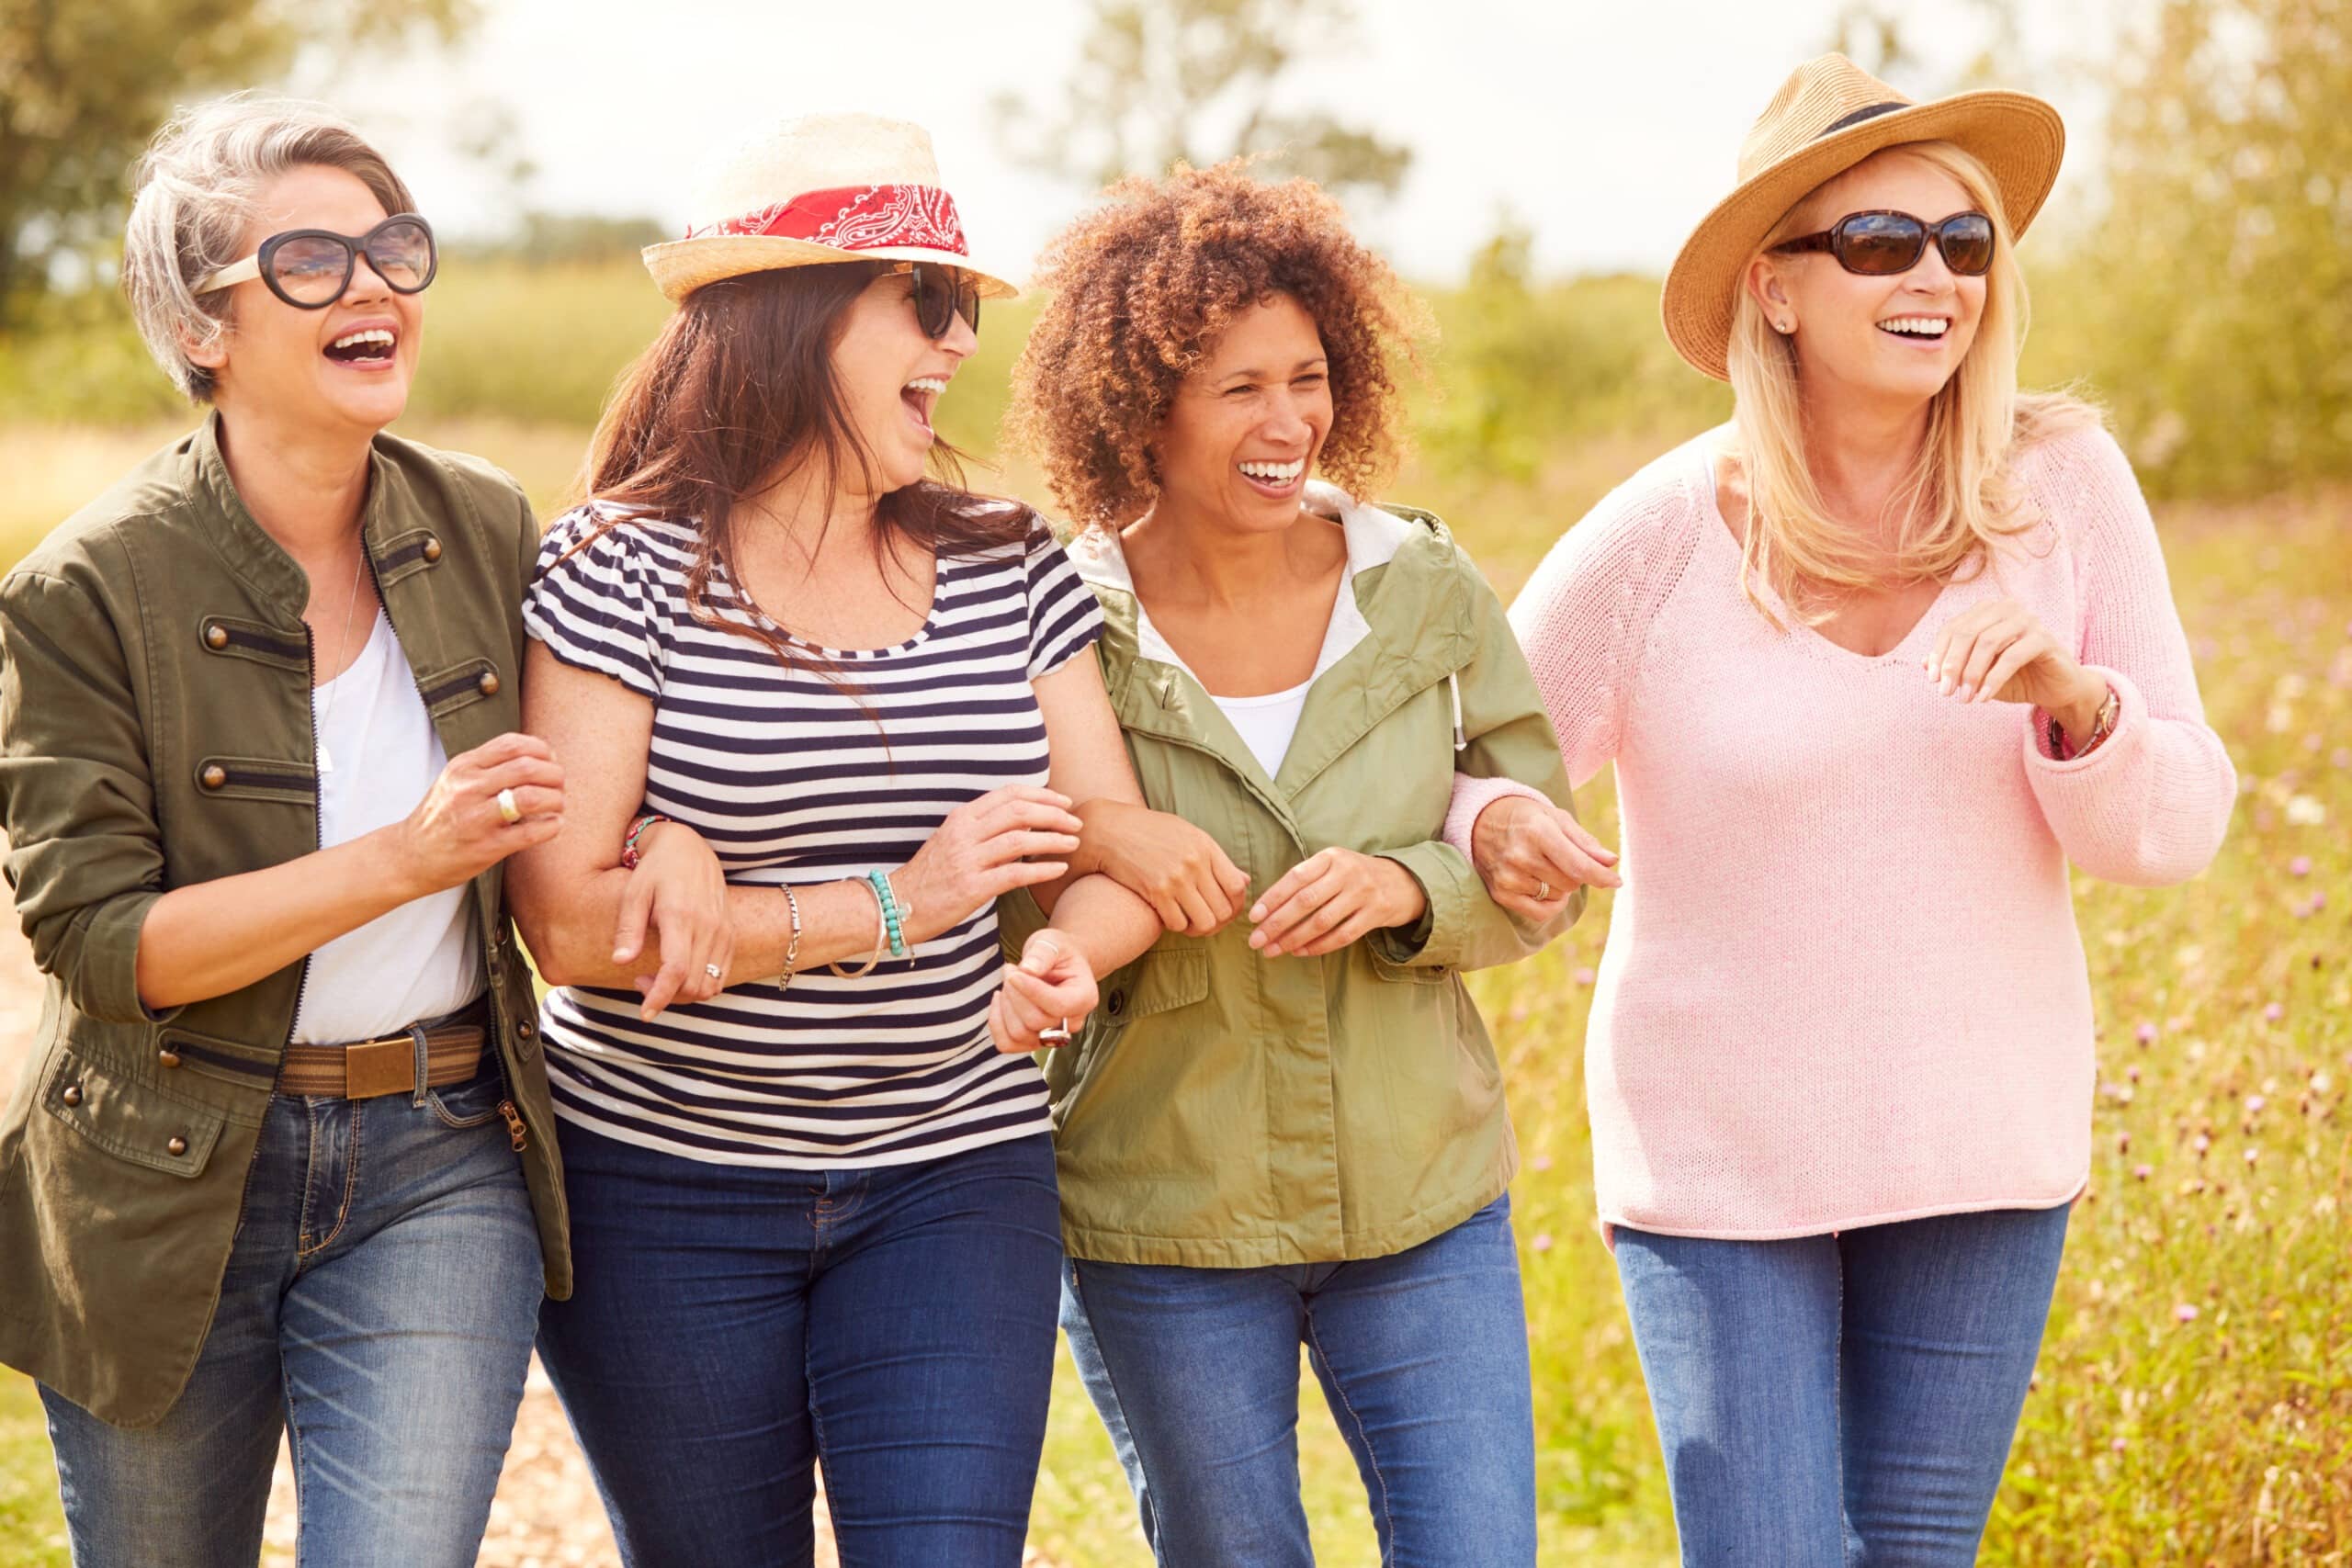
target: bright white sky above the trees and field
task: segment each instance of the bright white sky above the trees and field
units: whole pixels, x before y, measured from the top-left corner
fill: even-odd
[[[2013,85],[2056,99],[2084,190],[2098,63],[2133,0],[2018,0]],[[1663,270],[1731,188],[1740,134],[1844,0],[1359,0],[1352,49],[1296,68],[1284,101],[1334,108],[1416,150],[1397,200],[1357,205],[1409,275],[1446,280],[1505,209],[1545,270]],[[795,113],[917,120],[938,148],[974,254],[1025,270],[1084,193],[1011,165],[988,103],[1051,108],[1077,54],[1082,0],[485,0],[454,54],[383,68],[320,61],[299,80],[381,139],[445,230],[496,228],[520,202],[649,214],[682,228],[710,158]],[[1922,0],[1896,85],[1933,96],[1980,47],[1966,0]],[[2065,71],[2060,61],[2091,61]],[[332,82],[332,85],[329,85]],[[520,197],[456,146],[496,113],[536,165]],[[503,146],[501,146],[503,155]]]

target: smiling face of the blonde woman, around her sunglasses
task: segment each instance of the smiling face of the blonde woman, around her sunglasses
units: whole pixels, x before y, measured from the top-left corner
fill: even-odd
[[[1851,212],[1907,212],[1940,223],[1976,202],[1957,179],[1900,148],[1875,153],[1802,205],[1788,233],[1820,233]],[[1985,315],[1985,280],[1959,277],[1929,244],[1907,273],[1865,277],[1828,252],[1759,256],[1748,289],[1764,320],[1792,329],[1806,390],[1926,402],[1952,378]]]

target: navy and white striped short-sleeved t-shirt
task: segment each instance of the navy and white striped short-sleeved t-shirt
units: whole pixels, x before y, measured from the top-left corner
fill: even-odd
[[[616,512],[604,512],[616,515]],[[837,675],[694,621],[694,529],[597,512],[548,529],[522,618],[564,663],[654,703],[644,809],[687,823],[746,886],[903,865],[953,806],[1047,780],[1030,682],[1103,632],[1044,522],[1000,550],[938,557],[931,616],[891,649],[816,649]],[[706,604],[746,625],[713,567]],[[842,677],[856,689],[842,686]],[[856,966],[863,959],[851,959]],[[856,980],[741,980],[637,1020],[635,992],[562,987],[543,1032],[555,1112],[607,1138],[739,1166],[936,1159],[1047,1131],[1044,1077],[988,1044],[997,914]]]

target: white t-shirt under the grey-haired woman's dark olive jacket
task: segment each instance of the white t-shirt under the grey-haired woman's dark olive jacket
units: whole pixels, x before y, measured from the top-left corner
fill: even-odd
[[[433,733],[407,654],[379,609],[350,668],[310,693],[318,733],[320,844],[397,823],[426,797],[449,752]],[[482,990],[468,884],[426,893],[310,954],[299,1044],[374,1039],[454,1013]]]

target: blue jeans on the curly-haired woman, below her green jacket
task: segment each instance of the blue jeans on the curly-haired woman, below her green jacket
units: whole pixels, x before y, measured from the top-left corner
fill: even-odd
[[[1061,1324],[1162,1568],[1310,1568],[1305,1342],[1381,1563],[1536,1561],[1536,1422],[1510,1197],[1392,1258],[1190,1269],[1073,1258]]]

